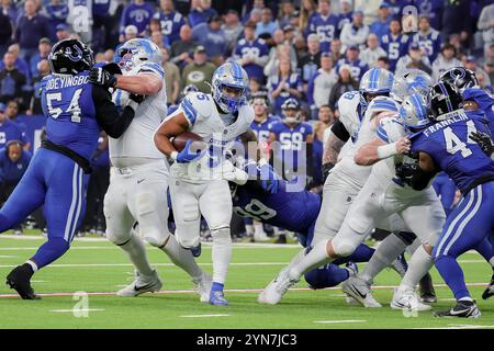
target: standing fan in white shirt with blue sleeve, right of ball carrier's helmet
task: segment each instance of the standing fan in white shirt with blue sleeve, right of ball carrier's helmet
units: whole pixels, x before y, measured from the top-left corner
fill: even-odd
[[[333,86],[338,81],[338,75],[333,69],[333,58],[329,53],[321,56],[321,68],[312,77],[307,87],[307,102],[311,107],[311,118],[317,118],[321,106],[329,101]]]

